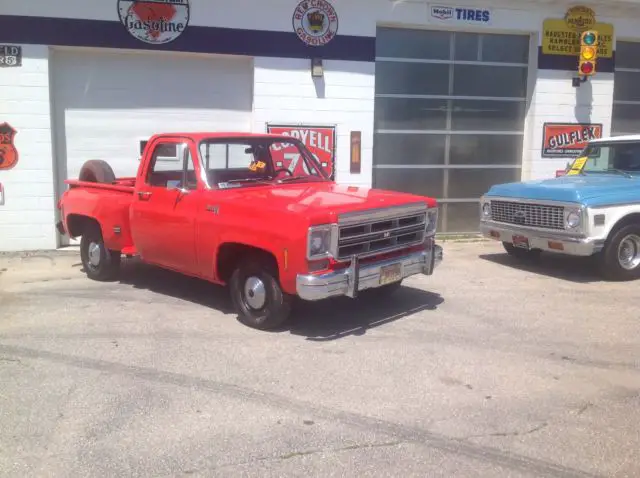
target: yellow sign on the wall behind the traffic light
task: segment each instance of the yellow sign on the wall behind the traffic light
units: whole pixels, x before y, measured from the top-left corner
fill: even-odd
[[[613,25],[596,23],[591,30],[600,34],[598,56],[613,58]],[[549,18],[542,24],[542,53],[545,55],[575,56],[580,54],[580,34],[561,18]]]

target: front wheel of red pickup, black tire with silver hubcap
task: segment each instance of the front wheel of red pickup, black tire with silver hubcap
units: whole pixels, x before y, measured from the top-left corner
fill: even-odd
[[[248,287],[251,282],[253,288]],[[287,322],[291,315],[293,297],[282,290],[269,261],[260,257],[244,259],[233,271],[229,287],[238,320],[248,327],[275,329]],[[261,291],[264,301],[260,300]]]

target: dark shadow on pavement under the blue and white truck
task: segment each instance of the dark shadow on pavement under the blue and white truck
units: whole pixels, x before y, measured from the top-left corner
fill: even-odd
[[[480,259],[505,267],[540,274],[554,279],[588,284],[602,282],[592,257],[576,257],[563,254],[540,254],[538,259],[518,259],[505,253],[481,254]]]

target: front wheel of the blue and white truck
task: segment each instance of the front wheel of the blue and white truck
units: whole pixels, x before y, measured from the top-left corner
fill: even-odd
[[[625,267],[625,250],[630,251],[631,256],[640,258],[640,224],[622,226],[605,241],[603,250],[596,256],[597,266],[605,279],[628,281],[640,278],[640,260],[629,261]]]

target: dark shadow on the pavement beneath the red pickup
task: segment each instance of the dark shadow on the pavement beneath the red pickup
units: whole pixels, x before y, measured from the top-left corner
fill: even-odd
[[[187,300],[197,305],[233,314],[226,288],[205,280],[144,264],[135,259],[122,261],[119,282],[135,289]],[[376,296],[375,290],[357,299],[332,298],[318,302],[296,300],[290,321],[273,332],[290,332],[308,340],[328,341],[349,335],[363,335],[367,330],[403,319],[416,312],[434,310],[444,302],[438,294],[401,287],[393,295]]]

